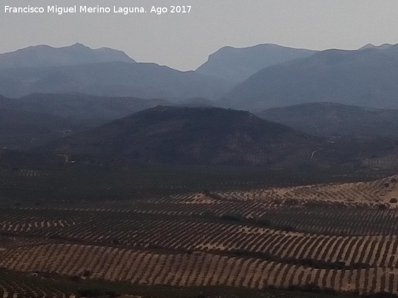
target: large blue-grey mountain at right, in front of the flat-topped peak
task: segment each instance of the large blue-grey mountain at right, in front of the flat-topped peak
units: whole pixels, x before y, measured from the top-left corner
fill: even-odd
[[[397,81],[398,45],[326,50],[253,74],[221,103],[251,111],[306,102],[398,108]]]

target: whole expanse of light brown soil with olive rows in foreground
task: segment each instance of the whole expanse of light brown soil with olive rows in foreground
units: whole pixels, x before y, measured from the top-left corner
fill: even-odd
[[[139,285],[398,294],[397,181],[4,207],[0,268]]]

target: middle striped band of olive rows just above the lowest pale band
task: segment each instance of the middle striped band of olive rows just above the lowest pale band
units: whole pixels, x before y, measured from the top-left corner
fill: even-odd
[[[275,230],[247,224],[205,220],[119,217],[95,219],[71,226],[58,222],[6,225],[3,234],[45,242],[66,241],[125,248],[234,252],[268,259],[311,259],[345,266],[398,268],[398,236],[333,236]],[[21,241],[23,243],[23,241]],[[39,242],[40,243],[40,242]],[[32,245],[35,244],[34,242]],[[0,244],[0,249],[15,247]],[[1,253],[1,251],[0,251]]]

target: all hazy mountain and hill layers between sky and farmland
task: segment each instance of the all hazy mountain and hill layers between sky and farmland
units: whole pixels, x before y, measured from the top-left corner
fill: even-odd
[[[50,58],[45,62],[40,55],[47,52]],[[31,47],[13,55],[22,63],[32,53],[41,53],[35,67],[0,70],[0,93],[21,96],[0,98],[3,147],[39,146],[39,150],[93,155],[99,160],[261,164],[269,168],[367,166],[372,158],[393,156],[396,151],[395,141],[388,140],[397,137],[394,110],[322,101],[398,107],[398,86],[394,84],[398,79],[397,45],[322,52],[272,44],[226,47],[210,55],[195,72],[136,63],[122,52],[92,50],[80,44],[60,49]],[[52,60],[58,55],[63,58],[56,65]],[[85,59],[85,55],[92,58]],[[109,61],[104,62],[106,59]],[[216,78],[214,73],[201,74],[217,70],[220,77],[249,75],[264,65],[267,67],[230,92],[233,82]],[[319,101],[259,114],[301,132],[248,112],[195,108],[222,105],[259,111]],[[136,113],[157,105],[163,106]],[[18,125],[11,128],[12,122]],[[100,127],[93,129],[96,126]],[[29,128],[27,134],[19,129],[23,127]],[[338,144],[330,143],[330,137],[337,138]],[[46,147],[46,142],[53,143]]]

